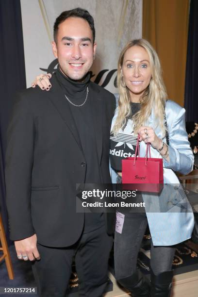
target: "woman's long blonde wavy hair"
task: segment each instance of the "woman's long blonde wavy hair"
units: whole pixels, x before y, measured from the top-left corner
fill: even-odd
[[[147,51],[151,67],[151,80],[144,94],[140,97],[140,110],[132,116],[130,93],[125,83],[123,83],[121,68],[126,51],[133,46],[142,47]],[[164,117],[167,93],[162,77],[162,68],[158,55],[147,40],[131,40],[126,44],[124,49],[122,49],[117,67],[117,86],[119,90],[118,115],[116,117],[112,132],[116,134],[125,126],[127,119],[132,118],[134,123],[134,133],[136,134],[140,127],[145,125],[148,117],[151,114],[151,110],[154,109],[157,126],[159,125],[161,127],[163,135],[165,135]]]

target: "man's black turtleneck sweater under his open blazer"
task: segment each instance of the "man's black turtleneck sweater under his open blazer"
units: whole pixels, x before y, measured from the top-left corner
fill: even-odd
[[[76,105],[81,105],[87,94],[90,76],[87,75],[83,82],[76,82],[67,78],[57,68],[57,79],[60,82],[67,98]],[[66,99],[66,98],[65,98]],[[96,137],[93,125],[92,94],[89,90],[86,102],[82,106],[74,106],[66,99],[73,115],[79,133],[82,151],[86,160],[85,183],[101,183],[101,174],[96,148]],[[78,182],[78,181],[77,181]],[[101,213],[85,213],[83,233],[94,231],[104,225],[104,216]]]

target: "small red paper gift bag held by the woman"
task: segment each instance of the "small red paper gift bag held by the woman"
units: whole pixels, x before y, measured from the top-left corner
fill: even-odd
[[[164,185],[163,159],[150,157],[150,143],[147,143],[146,157],[137,157],[139,138],[138,135],[135,157],[122,160],[122,183],[126,189],[159,193]]]

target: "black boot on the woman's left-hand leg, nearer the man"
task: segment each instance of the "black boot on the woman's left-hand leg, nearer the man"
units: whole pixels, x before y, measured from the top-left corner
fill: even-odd
[[[149,297],[150,286],[139,270],[127,278],[117,280],[132,293],[132,297]]]

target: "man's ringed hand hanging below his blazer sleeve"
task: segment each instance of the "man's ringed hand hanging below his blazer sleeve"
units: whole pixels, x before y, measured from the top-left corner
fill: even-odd
[[[36,247],[37,237],[33,234],[31,237],[15,241],[17,258],[30,261],[40,260],[40,255]]]

